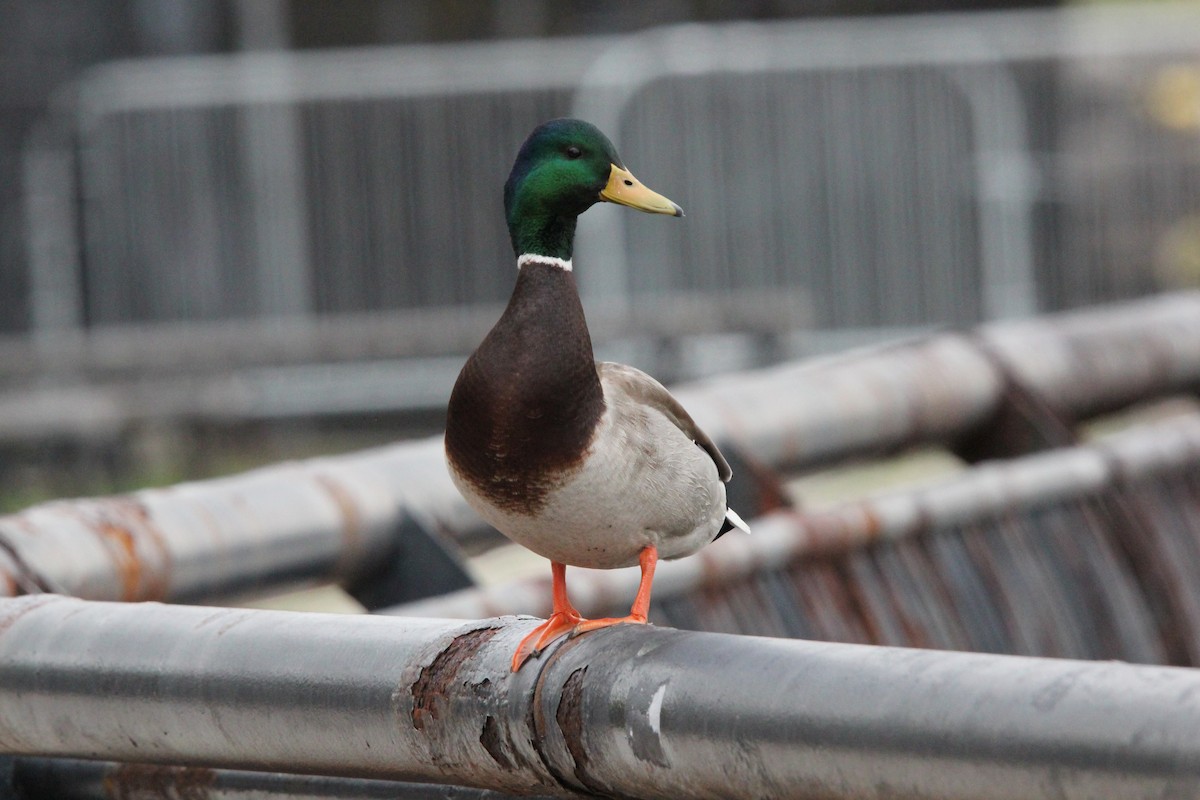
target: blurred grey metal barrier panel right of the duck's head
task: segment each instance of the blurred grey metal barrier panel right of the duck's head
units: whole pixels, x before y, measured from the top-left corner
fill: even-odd
[[[607,215],[611,290],[810,290],[818,326],[970,323],[1195,285],[1200,12],[1128,6],[684,26],[576,110],[712,224]],[[589,253],[592,249],[589,249]],[[667,275],[664,279],[662,275]]]

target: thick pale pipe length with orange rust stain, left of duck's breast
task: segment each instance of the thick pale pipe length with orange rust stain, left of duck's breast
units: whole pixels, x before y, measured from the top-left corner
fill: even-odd
[[[480,523],[440,441],[278,464],[244,475],[66,500],[0,517],[0,594],[29,585],[94,600],[244,595],[312,581],[354,587],[404,534]]]

